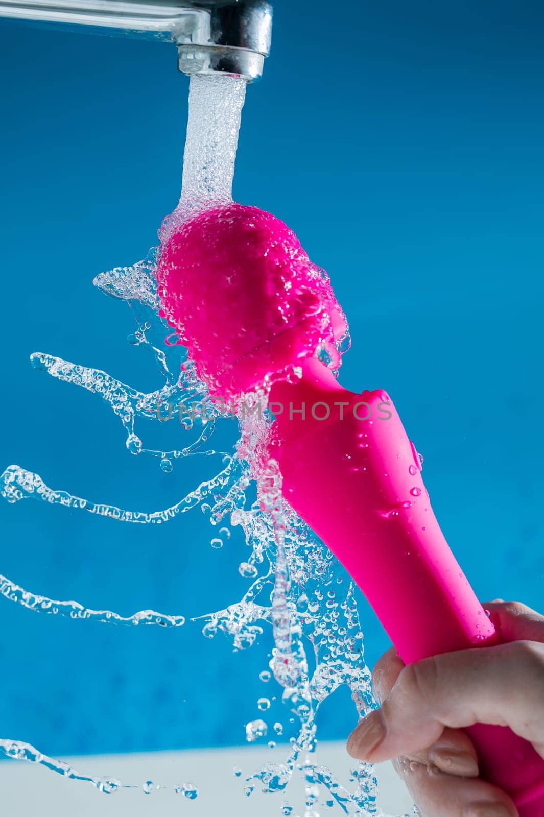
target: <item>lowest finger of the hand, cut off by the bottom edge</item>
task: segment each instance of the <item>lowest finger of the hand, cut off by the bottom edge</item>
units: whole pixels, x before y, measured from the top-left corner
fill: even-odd
[[[479,778],[445,774],[408,757],[394,761],[413,801],[424,817],[516,817],[504,792]]]

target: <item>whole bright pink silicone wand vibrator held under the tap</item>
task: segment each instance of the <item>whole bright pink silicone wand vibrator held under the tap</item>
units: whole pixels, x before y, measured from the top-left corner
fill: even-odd
[[[404,662],[497,644],[389,395],[356,395],[332,374],[345,317],[292,230],[239,204],[201,213],[163,248],[158,293],[213,396],[270,389],[283,496],[345,565]],[[270,379],[281,371],[289,382]],[[544,817],[544,758],[506,727],[467,731],[481,775],[521,817]]]

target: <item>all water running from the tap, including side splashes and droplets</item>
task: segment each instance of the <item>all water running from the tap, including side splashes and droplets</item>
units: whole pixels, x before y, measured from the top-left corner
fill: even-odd
[[[245,90],[245,83],[237,78],[191,79],[181,200],[163,222],[159,231],[161,244],[176,225],[195,212],[232,200]],[[2,474],[2,496],[8,502],[33,498],[145,525],[176,520],[177,516],[200,506],[212,525],[222,526],[223,536],[228,537],[229,525],[240,526],[249,555],[234,569],[247,578],[247,591],[241,600],[202,617],[203,635],[212,638],[221,632],[237,650],[249,649],[257,638],[271,636],[270,672],[261,672],[261,680],[269,682],[271,675],[274,676],[287,708],[286,716],[298,722],[297,736],[290,740],[285,761],[268,763],[247,774],[243,790],[249,796],[258,786],[265,792],[287,795],[289,780],[293,775],[302,774],[306,792],[301,811],[304,817],[317,817],[320,806],[327,808],[335,804],[347,815],[376,814],[377,784],[371,766],[354,767],[353,788],[348,791],[328,769],[313,762],[317,715],[325,699],[347,685],[359,715],[373,706],[353,584],[346,579],[332,553],[314,538],[284,502],[277,463],[263,462],[262,450],[271,422],[265,395],[243,395],[239,403],[242,408],[238,408],[239,440],[234,451],[221,452],[209,447],[217,424],[230,418],[233,409],[208,399],[206,388],[198,381],[185,350],[177,344],[177,337],[172,336],[172,329],[158,316],[154,270],[160,253],[159,245],[144,261],[102,273],[94,282],[102,292],[126,301],[132,309],[137,329],[131,342],[153,352],[163,379],[156,391],[141,393],[103,371],[41,352],[31,355],[31,363],[51,377],[82,386],[109,404],[123,425],[127,449],[133,455],[158,458],[166,473],[172,471],[177,461],[206,456],[211,462],[221,461],[216,474],[172,507],[156,511],[123,509],[51,489],[41,476],[16,465],[7,467]],[[247,407],[250,410],[244,410]],[[196,430],[197,439],[171,451],[147,449],[136,434],[136,422],[142,418],[155,422],[176,419],[181,421],[178,427],[182,435]],[[151,623],[163,627],[179,627],[185,622],[179,614],[143,610],[125,618],[109,610],[88,609],[76,601],[51,600],[3,576],[0,576],[0,592],[28,609],[70,618],[132,625]],[[270,706],[269,699],[262,698],[258,703],[263,713]],[[282,723],[271,726],[258,718],[246,724],[247,740],[281,736],[283,729]],[[0,749],[8,757],[38,762],[69,778],[87,780],[102,792],[127,788],[116,779],[79,775],[62,761],[52,760],[28,743],[0,740]],[[191,799],[198,793],[190,784],[178,788]],[[295,806],[287,800],[283,801],[282,808],[284,815],[297,817]]]

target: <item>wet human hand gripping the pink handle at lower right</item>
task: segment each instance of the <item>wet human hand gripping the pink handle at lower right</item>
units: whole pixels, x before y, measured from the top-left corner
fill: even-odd
[[[511,798],[478,776],[465,726],[510,726],[544,757],[544,616],[518,602],[489,610],[501,640],[404,666],[391,648],[372,684],[381,708],[359,723],[348,752],[394,760],[425,817],[517,817]]]

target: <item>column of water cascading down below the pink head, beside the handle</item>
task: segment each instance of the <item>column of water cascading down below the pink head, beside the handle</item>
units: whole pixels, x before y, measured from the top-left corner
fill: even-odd
[[[262,395],[261,399],[265,401]],[[337,598],[340,594],[332,589],[338,587],[337,561],[284,501],[278,463],[266,453],[269,430],[270,418],[265,412],[242,423],[239,455],[246,459],[256,480],[257,498],[249,511],[239,511],[233,521],[242,525],[252,547],[250,561],[266,565],[250,593],[263,593],[265,587],[269,593],[275,644],[270,666],[283,687],[283,703],[299,721],[299,730],[285,763],[266,764],[250,775],[247,783],[259,780],[265,792],[283,791],[299,770],[305,775],[306,815],[313,815],[318,805],[319,785],[346,814],[373,814],[377,811],[377,780],[371,766],[359,764],[353,772],[356,788],[347,792],[328,770],[311,761],[319,706],[338,687],[347,685],[359,714],[366,714],[374,705],[371,677],[363,662],[354,585],[350,583]],[[305,641],[313,651],[312,673]]]

